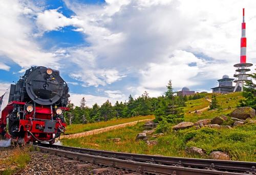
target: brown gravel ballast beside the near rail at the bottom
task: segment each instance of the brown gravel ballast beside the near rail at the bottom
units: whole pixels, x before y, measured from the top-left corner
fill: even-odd
[[[21,174],[133,174],[132,171],[75,161],[55,155],[30,152],[31,160]],[[137,173],[136,173],[137,174]]]

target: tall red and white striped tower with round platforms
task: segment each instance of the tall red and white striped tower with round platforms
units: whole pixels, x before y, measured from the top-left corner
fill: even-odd
[[[247,77],[250,76],[249,73],[246,73],[250,71],[248,67],[252,66],[251,63],[246,63],[246,36],[245,36],[245,21],[244,21],[244,9],[243,9],[243,22],[242,22],[242,37],[241,37],[241,53],[240,53],[240,63],[235,64],[234,67],[238,67],[236,70],[236,73],[234,74],[234,77],[238,78],[234,82],[237,83],[234,87],[234,92],[237,91],[238,87],[241,87],[241,90],[243,91],[243,86],[246,81],[248,80]]]

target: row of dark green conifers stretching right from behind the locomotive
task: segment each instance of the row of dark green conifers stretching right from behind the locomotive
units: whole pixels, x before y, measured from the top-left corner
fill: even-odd
[[[155,114],[157,120],[163,120],[168,116],[168,120],[172,116],[182,118],[181,107],[185,106],[188,99],[202,98],[204,95],[196,93],[190,96],[177,96],[172,87],[172,81],[168,82],[167,90],[162,96],[150,97],[145,91],[138,98],[134,98],[131,94],[126,102],[116,102],[114,105],[109,100],[99,106],[95,103],[92,107],[86,105],[85,97],[82,97],[80,106],[74,106],[69,102],[70,111],[65,113],[66,122],[70,123],[88,123],[97,121],[107,121],[113,118],[126,118],[139,115]],[[175,119],[177,120],[177,119]]]

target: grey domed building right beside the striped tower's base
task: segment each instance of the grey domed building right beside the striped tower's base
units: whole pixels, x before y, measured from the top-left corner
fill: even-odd
[[[219,86],[211,88],[212,93],[229,93],[233,92],[233,80],[230,79],[226,74],[222,77],[222,79],[218,80]],[[241,87],[239,86],[236,91],[241,91]]]

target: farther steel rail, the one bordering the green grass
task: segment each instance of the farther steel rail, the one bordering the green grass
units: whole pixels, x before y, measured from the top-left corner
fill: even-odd
[[[50,144],[39,144],[44,147],[52,147],[62,149],[65,151],[72,151],[81,154],[89,154],[95,156],[102,156],[108,158],[116,158],[122,160],[131,160],[137,162],[146,162],[170,166],[183,166],[201,169],[216,169],[221,171],[232,171],[232,172],[252,172],[255,171],[255,162],[241,162],[241,161],[222,161],[222,160],[210,160],[210,159],[191,159],[191,158],[179,158],[179,157],[166,157],[166,156],[153,156],[153,155],[141,155],[141,154],[130,154],[130,153],[119,153],[110,151],[100,151],[96,149],[61,146],[61,145],[50,145]],[[254,168],[254,170],[253,170]]]

